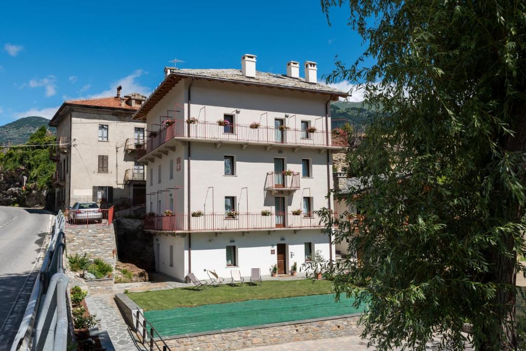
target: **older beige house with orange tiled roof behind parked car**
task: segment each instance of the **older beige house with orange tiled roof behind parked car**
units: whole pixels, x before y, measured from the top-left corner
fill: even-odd
[[[53,176],[55,208],[76,202],[102,207],[135,198],[144,203],[145,167],[136,145],[144,142],[145,124],[132,121],[146,97],[137,93],[65,101],[50,126],[57,127]],[[141,200],[142,198],[142,200]]]

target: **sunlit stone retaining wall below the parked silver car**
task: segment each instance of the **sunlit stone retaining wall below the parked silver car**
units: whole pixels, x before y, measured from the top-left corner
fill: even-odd
[[[99,257],[115,267],[116,248],[113,224],[109,226],[79,225],[64,229],[67,255]]]

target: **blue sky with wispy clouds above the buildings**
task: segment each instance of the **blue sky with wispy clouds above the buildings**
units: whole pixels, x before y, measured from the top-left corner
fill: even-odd
[[[279,74],[290,60],[316,61],[321,79],[336,55],[352,63],[362,52],[345,9],[331,23],[316,0],[4,2],[0,125],[50,118],[65,99],[111,96],[119,84],[148,95],[175,57],[180,68],[240,68],[250,53],[258,71]]]

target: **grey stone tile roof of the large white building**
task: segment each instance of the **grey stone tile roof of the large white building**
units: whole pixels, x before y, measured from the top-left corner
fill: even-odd
[[[256,71],[256,77],[246,77],[241,74],[240,69],[179,69],[173,67],[166,67],[175,75],[196,76],[212,79],[228,79],[229,81],[237,81],[242,83],[258,83],[272,86],[282,86],[286,88],[307,89],[310,91],[319,91],[323,93],[336,94],[338,96],[346,97],[348,94],[339,89],[319,84],[307,83],[304,78],[291,78],[285,74],[275,74],[268,72]]]

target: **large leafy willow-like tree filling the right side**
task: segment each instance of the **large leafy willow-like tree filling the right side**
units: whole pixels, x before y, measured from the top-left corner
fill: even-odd
[[[347,4],[321,0],[323,11]],[[368,303],[364,335],[380,349],[462,348],[464,323],[481,350],[517,349],[515,274],[525,254],[526,10],[515,1],[350,0],[366,48],[336,62],[373,106],[349,152],[366,192],[355,232],[362,260],[338,293]],[[364,67],[366,58],[375,63]],[[362,189],[363,190],[363,189]],[[329,230],[335,219],[325,214]]]

